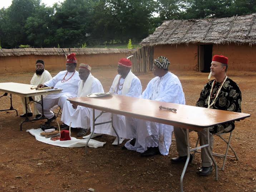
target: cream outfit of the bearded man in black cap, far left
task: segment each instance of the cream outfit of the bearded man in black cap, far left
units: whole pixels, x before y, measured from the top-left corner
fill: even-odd
[[[41,75],[36,75],[36,73],[34,73],[32,79],[30,81],[30,85],[37,86],[39,84],[44,84],[44,83],[46,83],[47,81],[49,81],[51,79],[52,79],[51,74],[47,70],[44,70],[44,72]],[[32,98],[33,98],[33,100],[35,100],[37,102],[39,102],[41,100],[40,95],[33,96]],[[26,101],[27,101],[27,103],[29,103],[28,98],[26,98]],[[22,104],[23,113],[26,113],[24,97],[21,98],[21,104]],[[27,112],[32,113],[31,107],[30,107],[29,104],[27,104]],[[35,115],[40,114],[40,112],[36,108],[35,103],[34,103],[34,114]]]

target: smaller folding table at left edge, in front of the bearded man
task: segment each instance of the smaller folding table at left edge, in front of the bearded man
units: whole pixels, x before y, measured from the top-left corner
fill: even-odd
[[[13,103],[12,103],[12,94],[19,95],[22,98],[25,99],[25,107],[26,107],[26,118],[25,120],[20,124],[20,131],[22,131],[22,124],[25,122],[29,121],[34,121],[34,120],[41,120],[41,119],[47,119],[44,116],[44,104],[43,104],[43,95],[49,95],[52,93],[60,93],[62,89],[44,89],[44,90],[36,90],[36,89],[30,89],[30,87],[33,87],[34,85],[28,85],[28,84],[22,84],[22,83],[0,83],[0,92],[4,92],[3,96],[8,96],[8,93],[10,94],[10,102],[11,102],[11,107],[10,109],[2,109],[1,111],[6,111],[6,110],[15,110],[16,115],[18,116],[18,111],[13,108]],[[41,103],[36,102],[33,100],[31,97],[36,96],[36,95],[41,95]],[[1,96],[1,97],[3,97]],[[0,98],[1,98],[0,97]],[[38,119],[33,119],[29,120],[27,113],[28,113],[28,108],[27,108],[27,100],[26,97],[30,97],[29,100],[39,103],[42,106],[42,116]]]

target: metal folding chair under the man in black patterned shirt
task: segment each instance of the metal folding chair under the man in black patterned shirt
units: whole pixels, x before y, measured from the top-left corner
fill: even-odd
[[[227,141],[227,140],[226,140],[225,138],[223,138],[222,136],[225,135],[225,134],[228,134],[228,133],[230,133],[230,136],[229,136],[229,139],[228,139],[228,141]],[[218,135],[216,134],[216,135],[215,135],[215,136],[220,137],[220,138],[227,144],[226,153],[225,153],[225,154],[212,153],[214,156],[224,157],[223,166],[222,166],[222,168],[221,168],[222,171],[224,171],[224,167],[225,167],[225,163],[226,163],[226,158],[227,158],[227,157],[236,157],[236,160],[239,161],[235,150],[234,150],[233,147],[230,145],[231,138],[232,138],[232,131],[231,131],[231,132],[228,132],[228,133],[221,133],[221,134],[218,134]],[[199,142],[199,137],[197,138],[196,147],[197,147],[197,145],[198,145],[198,142]],[[229,148],[233,151],[233,153],[234,153],[235,156],[231,156],[231,155],[228,155],[228,154],[227,154]],[[196,152],[197,152],[197,153],[201,153],[201,151],[194,151],[193,158],[192,158],[192,162],[193,162],[193,160],[194,160],[194,157],[195,157],[195,153],[196,153]]]

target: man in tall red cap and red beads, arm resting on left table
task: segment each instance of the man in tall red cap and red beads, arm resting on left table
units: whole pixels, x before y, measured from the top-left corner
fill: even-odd
[[[63,89],[62,93],[49,94],[43,98],[44,103],[44,115],[49,119],[49,122],[54,120],[56,117],[54,113],[50,110],[55,105],[59,105],[61,109],[67,100],[67,98],[77,97],[78,83],[80,81],[79,74],[75,70],[77,66],[77,59],[75,58],[75,53],[67,56],[67,63],[65,71],[59,72],[53,79],[49,80],[44,84],[39,84],[39,88],[43,87],[54,87]],[[42,112],[42,106],[37,103],[36,107],[39,112]]]

